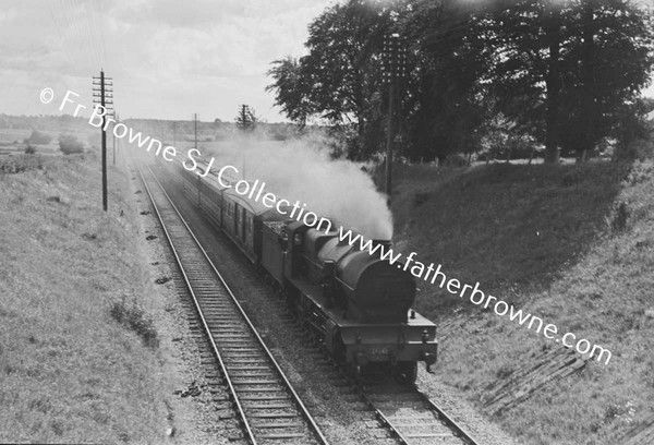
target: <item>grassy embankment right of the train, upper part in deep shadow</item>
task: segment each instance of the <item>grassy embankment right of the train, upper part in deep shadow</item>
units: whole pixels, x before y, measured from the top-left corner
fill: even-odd
[[[525,444],[618,444],[654,414],[654,165],[481,166],[395,170],[396,245],[613,351],[499,422]],[[443,381],[480,400],[548,341],[422,288],[417,308],[465,322],[440,345]],[[461,312],[461,310],[463,312]]]

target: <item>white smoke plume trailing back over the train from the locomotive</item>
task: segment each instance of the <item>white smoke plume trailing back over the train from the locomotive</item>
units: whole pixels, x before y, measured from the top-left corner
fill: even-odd
[[[332,160],[327,140],[311,136],[270,142],[257,136],[239,136],[211,149],[202,149],[205,159],[216,157],[213,171],[231,165],[251,182],[266,182],[266,190],[318,216],[336,218],[370,239],[392,238],[392,215],[386,196],[360,166]]]

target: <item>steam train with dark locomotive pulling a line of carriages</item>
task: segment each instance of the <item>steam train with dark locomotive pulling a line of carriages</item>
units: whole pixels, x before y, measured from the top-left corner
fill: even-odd
[[[436,325],[411,308],[415,279],[400,263],[341,241],[337,225],[327,231],[288,219],[210,167],[178,168],[186,200],[270,277],[337,362],[356,374],[387,370],[402,383],[415,381],[419,362],[432,372]]]

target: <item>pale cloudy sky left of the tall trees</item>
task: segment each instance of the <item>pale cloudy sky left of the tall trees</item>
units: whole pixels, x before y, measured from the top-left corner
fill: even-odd
[[[123,119],[231,121],[249,104],[282,121],[265,73],[275,59],[304,55],[307,24],[330,3],[0,0],[0,112],[57,113],[66,89],[89,104],[90,77],[104,68]],[[45,87],[56,94],[49,105]]]

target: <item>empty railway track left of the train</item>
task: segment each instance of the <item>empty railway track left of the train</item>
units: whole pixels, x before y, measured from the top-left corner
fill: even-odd
[[[238,300],[148,168],[138,173],[252,444],[328,444]]]

